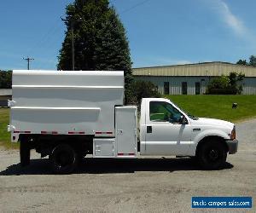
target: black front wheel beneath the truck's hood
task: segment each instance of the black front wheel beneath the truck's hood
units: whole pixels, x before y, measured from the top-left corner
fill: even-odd
[[[197,158],[201,166],[206,170],[221,169],[227,159],[224,143],[219,141],[205,142],[201,145]]]

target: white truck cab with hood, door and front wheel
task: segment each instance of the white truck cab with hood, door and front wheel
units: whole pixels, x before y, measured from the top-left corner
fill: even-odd
[[[188,115],[172,101],[144,98],[140,118],[140,154],[195,156],[206,168],[224,164],[237,151],[234,124]]]

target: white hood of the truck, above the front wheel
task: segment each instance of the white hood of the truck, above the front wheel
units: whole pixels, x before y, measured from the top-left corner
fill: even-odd
[[[198,120],[193,120],[194,124],[197,125],[209,125],[209,126],[218,126],[218,127],[224,127],[228,128],[230,130],[233,129],[234,124],[230,123],[228,121],[214,119],[214,118],[198,118]]]

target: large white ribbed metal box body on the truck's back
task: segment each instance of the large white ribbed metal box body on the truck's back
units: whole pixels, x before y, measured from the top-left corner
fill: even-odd
[[[14,71],[9,130],[113,137],[123,96],[124,72]]]

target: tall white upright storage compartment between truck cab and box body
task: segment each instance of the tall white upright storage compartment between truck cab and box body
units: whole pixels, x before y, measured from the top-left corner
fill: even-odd
[[[115,108],[115,130],[118,157],[137,155],[137,107]]]

